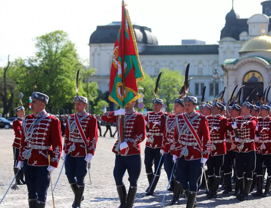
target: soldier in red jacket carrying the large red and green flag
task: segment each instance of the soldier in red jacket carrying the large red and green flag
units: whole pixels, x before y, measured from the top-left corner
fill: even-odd
[[[118,130],[118,140],[113,146],[112,152],[116,154],[114,178],[120,198],[119,208],[133,207],[137,190],[137,181],[141,172],[141,149],[140,143],[146,137],[144,116],[135,111],[135,102],[127,105],[125,110],[120,108],[102,115],[102,120],[116,123]],[[120,141],[121,115],[124,115],[124,142]],[[123,183],[123,175],[128,171],[130,187],[128,195]]]

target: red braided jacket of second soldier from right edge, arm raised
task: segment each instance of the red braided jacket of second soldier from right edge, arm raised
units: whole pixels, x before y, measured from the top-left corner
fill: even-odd
[[[237,146],[234,150],[237,152],[255,151],[256,146],[254,142],[255,129],[258,119],[251,115],[238,116],[234,118],[237,124],[237,132],[239,134],[239,142],[234,142]]]

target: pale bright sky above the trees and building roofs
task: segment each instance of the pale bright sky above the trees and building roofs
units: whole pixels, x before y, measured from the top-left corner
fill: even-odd
[[[263,0],[234,0],[240,18],[262,14]],[[181,45],[182,39],[217,44],[232,0],[126,0],[132,22],[152,29],[159,45]],[[121,0],[0,1],[0,66],[7,57],[27,58],[34,38],[63,30],[82,59],[89,58],[89,38],[99,25],[121,20]],[[113,48],[112,48],[113,52]]]

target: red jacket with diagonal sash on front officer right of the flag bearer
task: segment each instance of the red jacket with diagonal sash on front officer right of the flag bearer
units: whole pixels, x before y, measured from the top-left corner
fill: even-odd
[[[189,121],[199,115],[198,118],[192,121],[192,126],[194,127],[199,140],[201,140],[201,138],[203,139],[203,145],[201,149],[191,130],[186,125],[185,120],[183,119],[183,114],[178,115],[178,122],[176,121],[174,128],[174,139],[177,141],[175,146],[176,156],[180,158],[184,155],[186,160],[196,160],[201,158],[202,153],[202,156],[208,159],[210,153],[208,120],[204,115],[196,113],[196,111],[193,111],[190,115],[187,113],[184,113],[184,115],[187,116]]]

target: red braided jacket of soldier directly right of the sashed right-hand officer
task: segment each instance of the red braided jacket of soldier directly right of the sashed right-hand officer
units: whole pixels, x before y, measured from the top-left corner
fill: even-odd
[[[211,138],[211,156],[225,155],[225,133],[228,125],[228,119],[218,114],[207,116],[207,120]]]

